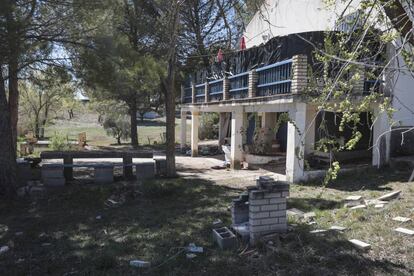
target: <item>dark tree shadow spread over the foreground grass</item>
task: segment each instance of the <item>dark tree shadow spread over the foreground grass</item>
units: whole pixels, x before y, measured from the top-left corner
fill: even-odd
[[[212,243],[211,223],[230,222],[229,206],[241,190],[193,179],[118,182],[107,186],[77,182],[49,190],[38,200],[0,203],[1,275],[136,275],[132,259],[151,261],[146,275],[338,275],[404,271],[387,260],[372,260],[340,235],[311,236],[306,225],[282,235],[273,252],[223,252]],[[107,206],[108,198],[119,202]],[[294,199],[303,208],[335,202]],[[16,233],[22,232],[19,235]],[[205,252],[187,259],[189,243]],[[258,256],[258,257],[254,257]]]

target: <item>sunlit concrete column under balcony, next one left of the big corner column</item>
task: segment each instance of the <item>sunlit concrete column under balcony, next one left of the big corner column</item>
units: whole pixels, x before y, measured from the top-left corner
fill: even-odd
[[[231,117],[231,168],[240,169],[240,162],[243,159],[243,111],[233,111]]]

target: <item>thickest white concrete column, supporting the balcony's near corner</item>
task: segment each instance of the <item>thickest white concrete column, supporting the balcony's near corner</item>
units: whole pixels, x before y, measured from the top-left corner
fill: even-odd
[[[288,141],[286,150],[286,179],[298,182],[304,177],[304,141],[306,125],[306,104],[296,103],[289,111],[293,123],[288,123]]]

